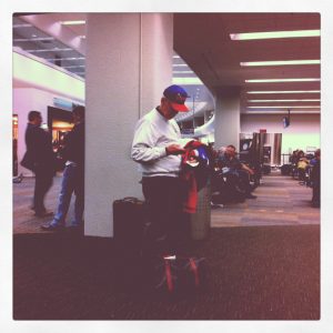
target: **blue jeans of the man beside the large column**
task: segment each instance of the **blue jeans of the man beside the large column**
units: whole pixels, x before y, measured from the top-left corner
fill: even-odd
[[[84,211],[84,170],[72,164],[64,168],[57,213],[52,225],[64,225],[65,216],[71,203],[72,193],[75,194],[73,226],[82,225]]]

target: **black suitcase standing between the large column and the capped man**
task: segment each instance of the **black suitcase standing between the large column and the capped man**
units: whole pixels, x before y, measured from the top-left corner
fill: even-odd
[[[130,259],[142,254],[147,226],[144,201],[127,196],[113,202],[113,239],[118,258]]]

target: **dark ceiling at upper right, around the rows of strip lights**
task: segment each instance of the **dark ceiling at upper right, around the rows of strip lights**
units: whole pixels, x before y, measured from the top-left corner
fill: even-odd
[[[317,30],[319,13],[176,13],[174,16],[174,50],[195,71],[213,92],[236,87],[242,91],[242,112],[249,105],[259,112],[272,112],[275,107],[295,108],[300,112],[320,110],[320,101],[249,102],[251,100],[320,99],[320,93],[248,94],[246,91],[304,91],[320,90],[316,82],[245,83],[249,79],[301,79],[321,77],[320,64],[272,65],[244,68],[244,61],[320,60],[320,37],[281,38],[233,41],[230,33]],[[252,109],[253,110],[253,109]],[[255,109],[254,109],[255,110]],[[273,109],[274,110],[274,109]],[[276,110],[276,109],[275,109]],[[283,110],[283,109],[280,109]],[[285,109],[284,109],[285,110]],[[291,110],[293,110],[291,108]]]

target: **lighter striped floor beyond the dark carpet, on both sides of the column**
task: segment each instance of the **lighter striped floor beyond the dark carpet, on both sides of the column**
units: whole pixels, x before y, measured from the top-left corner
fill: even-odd
[[[38,219],[29,209],[32,201],[34,179],[24,178],[13,184],[13,232],[39,233],[41,223],[50,218]],[[54,178],[53,185],[46,198],[46,206],[56,211],[60,191],[61,175]],[[312,190],[299,184],[291,176],[280,173],[264,175],[262,184],[244,203],[225,204],[211,212],[211,226],[251,225],[300,225],[320,224],[320,209],[310,205]],[[73,215],[73,200],[68,213],[68,222]]]

